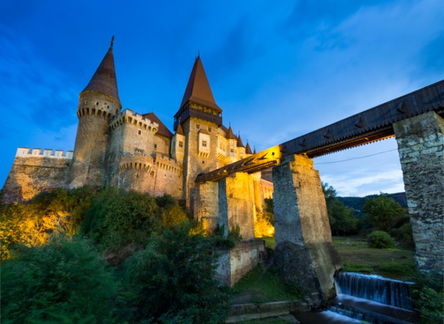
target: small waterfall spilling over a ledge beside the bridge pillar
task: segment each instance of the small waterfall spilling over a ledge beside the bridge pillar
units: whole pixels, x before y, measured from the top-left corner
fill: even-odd
[[[362,273],[339,272],[334,278],[337,294],[373,300],[413,311],[410,286],[413,282],[391,280]]]

